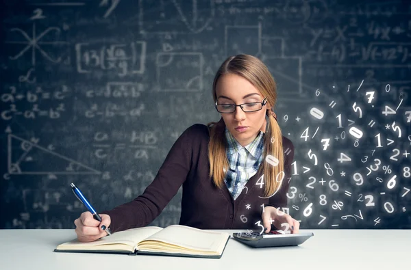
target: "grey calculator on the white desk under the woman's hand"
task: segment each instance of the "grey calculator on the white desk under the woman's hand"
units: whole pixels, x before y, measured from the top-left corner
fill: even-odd
[[[261,233],[259,230],[247,230],[247,232],[234,232],[233,238],[249,245],[250,247],[285,247],[301,245],[307,239],[314,236],[314,232],[299,232],[297,234],[284,234],[284,232],[271,230]]]

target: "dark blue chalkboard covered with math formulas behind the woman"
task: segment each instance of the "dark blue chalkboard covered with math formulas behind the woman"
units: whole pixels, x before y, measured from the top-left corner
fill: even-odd
[[[0,228],[75,228],[140,195],[189,126],[220,119],[212,79],[262,59],[295,145],[301,228],[411,228],[411,4],[31,0],[1,8]],[[284,149],[289,152],[289,149]],[[151,225],[178,224],[181,189]]]

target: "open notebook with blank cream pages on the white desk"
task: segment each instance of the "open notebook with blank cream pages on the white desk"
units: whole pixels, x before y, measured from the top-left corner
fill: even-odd
[[[134,228],[92,242],[77,239],[58,245],[55,252],[125,253],[221,258],[230,238],[227,232],[212,232],[183,225],[166,228]]]

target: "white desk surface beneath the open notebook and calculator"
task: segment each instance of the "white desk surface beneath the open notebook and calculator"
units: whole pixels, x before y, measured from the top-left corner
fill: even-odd
[[[300,232],[314,232],[314,237],[296,247],[259,249],[229,239],[220,259],[206,259],[60,253],[53,249],[75,239],[74,230],[0,230],[0,269],[411,269],[411,230]]]

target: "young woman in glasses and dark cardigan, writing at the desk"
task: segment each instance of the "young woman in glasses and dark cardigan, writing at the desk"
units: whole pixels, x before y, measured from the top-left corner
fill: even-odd
[[[79,241],[105,236],[103,228],[147,226],[181,186],[181,225],[299,231],[299,222],[278,209],[287,206],[294,147],[273,113],[277,91],[268,68],[251,55],[229,57],[216,72],[212,94],[219,122],[188,127],[132,202],[102,212],[101,222],[82,213],[74,221]]]

